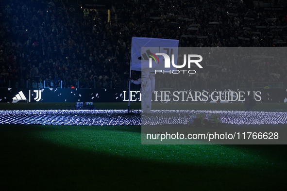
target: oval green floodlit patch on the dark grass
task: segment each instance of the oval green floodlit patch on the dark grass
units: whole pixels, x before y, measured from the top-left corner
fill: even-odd
[[[165,163],[194,166],[221,166],[256,168],[254,163],[263,168],[278,165],[274,156],[254,152],[234,145],[143,145],[137,127],[75,127],[45,126],[33,132],[37,140],[45,140],[57,145],[87,150],[98,154],[118,156],[121,159],[152,160]],[[194,142],[198,142],[194,140]],[[274,164],[273,164],[274,163]],[[261,167],[259,167],[261,168]]]

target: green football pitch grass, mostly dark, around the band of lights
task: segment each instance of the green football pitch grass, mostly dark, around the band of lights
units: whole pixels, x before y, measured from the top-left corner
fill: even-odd
[[[1,103],[0,110],[67,110],[74,104]],[[127,103],[95,106],[127,109]],[[242,103],[176,107],[244,110]],[[255,111],[287,111],[287,105],[258,103]],[[142,145],[140,126],[0,125],[0,151],[5,191],[286,189],[286,145]]]

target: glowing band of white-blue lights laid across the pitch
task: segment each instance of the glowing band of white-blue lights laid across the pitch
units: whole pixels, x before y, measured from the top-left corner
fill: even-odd
[[[22,125],[172,125],[188,124],[192,114],[220,114],[220,122],[234,125],[287,124],[287,112],[153,110],[141,117],[140,110],[16,110],[0,111],[0,124]]]

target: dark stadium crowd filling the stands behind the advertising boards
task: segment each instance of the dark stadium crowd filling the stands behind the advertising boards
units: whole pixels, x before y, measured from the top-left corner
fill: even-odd
[[[0,87],[126,88],[133,36],[179,40],[179,47],[282,47],[287,16],[242,0],[120,0],[110,12],[68,0],[3,0]],[[249,9],[251,8],[251,9]],[[132,71],[132,79],[140,77]],[[196,75],[156,87],[250,88],[283,82],[281,60],[205,65]],[[44,84],[45,81],[45,84]]]

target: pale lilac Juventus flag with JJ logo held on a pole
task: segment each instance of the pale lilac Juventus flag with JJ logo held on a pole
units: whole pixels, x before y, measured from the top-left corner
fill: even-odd
[[[171,39],[161,39],[161,38],[144,38],[144,37],[133,37],[132,38],[132,53],[131,53],[131,70],[141,71],[142,70],[142,61],[145,63],[146,61],[149,62],[148,52],[153,54],[155,53],[170,53],[175,55],[177,59],[177,48],[178,48],[178,40],[171,40]],[[144,47],[149,47],[148,52],[142,54],[141,49]],[[166,48],[166,49],[165,49]],[[169,48],[169,50],[168,50]],[[175,48],[171,50],[171,48]],[[168,52],[169,51],[169,52]],[[158,61],[157,63],[162,64],[163,56],[157,56]],[[156,59],[157,60],[157,59]],[[152,62],[155,63],[153,60]],[[158,65],[157,67],[161,67]],[[154,68],[150,68],[151,71],[154,71]]]

